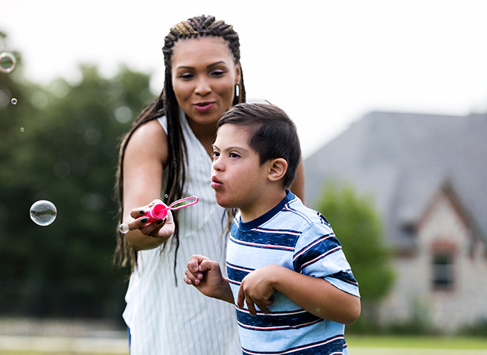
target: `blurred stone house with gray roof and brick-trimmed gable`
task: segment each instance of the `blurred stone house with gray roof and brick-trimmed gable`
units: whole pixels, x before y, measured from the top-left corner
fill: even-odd
[[[383,322],[418,307],[445,333],[487,322],[487,114],[368,113],[305,159],[305,178],[310,207],[328,180],[372,196],[397,275]]]

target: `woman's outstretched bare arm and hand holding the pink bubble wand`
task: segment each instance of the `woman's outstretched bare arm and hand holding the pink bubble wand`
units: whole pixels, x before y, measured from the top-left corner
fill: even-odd
[[[168,161],[166,132],[157,120],[145,123],[132,134],[123,161],[123,221],[130,226],[126,237],[129,246],[135,250],[152,249],[160,246],[170,235],[161,228],[163,224],[143,225],[143,215],[137,216],[134,209],[147,206],[154,199],[161,198],[163,166]]]

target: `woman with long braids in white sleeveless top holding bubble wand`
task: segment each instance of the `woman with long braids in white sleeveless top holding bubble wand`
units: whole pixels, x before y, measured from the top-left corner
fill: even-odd
[[[177,284],[193,253],[225,260],[227,216],[211,189],[210,153],[218,119],[246,100],[239,36],[212,16],[193,17],[170,29],[163,54],[162,93],[120,147],[120,223],[130,230],[118,234],[115,258],[132,267],[123,314],[130,351],[241,354],[234,307]],[[303,196],[303,186],[301,166],[292,190]],[[146,225],[148,202],[192,195],[196,205]]]

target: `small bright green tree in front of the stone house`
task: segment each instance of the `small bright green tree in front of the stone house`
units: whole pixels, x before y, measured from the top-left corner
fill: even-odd
[[[394,281],[392,254],[385,243],[380,216],[371,199],[336,182],[326,184],[317,209],[330,222],[358,281],[362,315],[355,328],[359,329],[375,321],[374,306],[388,294]]]

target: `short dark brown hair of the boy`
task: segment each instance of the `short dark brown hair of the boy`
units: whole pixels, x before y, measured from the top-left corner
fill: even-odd
[[[285,189],[291,187],[301,161],[301,145],[296,125],[273,104],[237,104],[218,120],[217,128],[225,124],[245,127],[249,134],[248,145],[260,157],[260,164],[270,159],[283,158],[287,171],[282,178]]]

